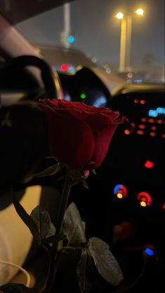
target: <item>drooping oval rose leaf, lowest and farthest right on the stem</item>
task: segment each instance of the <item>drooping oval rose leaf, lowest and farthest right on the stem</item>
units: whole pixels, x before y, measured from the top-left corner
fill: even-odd
[[[109,250],[109,245],[100,238],[90,238],[88,241],[88,254],[93,257],[100,275],[111,285],[119,285],[119,282],[123,280],[123,274],[117,260]]]

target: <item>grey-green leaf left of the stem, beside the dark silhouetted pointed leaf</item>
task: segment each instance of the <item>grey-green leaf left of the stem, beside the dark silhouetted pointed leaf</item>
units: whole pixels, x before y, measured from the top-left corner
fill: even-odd
[[[46,210],[39,205],[32,210],[30,217],[37,226],[37,231],[42,240],[55,235],[55,226],[51,222],[51,217]]]

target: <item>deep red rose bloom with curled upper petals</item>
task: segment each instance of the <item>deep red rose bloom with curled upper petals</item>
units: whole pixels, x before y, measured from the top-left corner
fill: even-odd
[[[117,125],[127,120],[118,118],[118,111],[91,107],[83,102],[40,99],[38,105],[48,118],[51,155],[72,169],[98,168]]]

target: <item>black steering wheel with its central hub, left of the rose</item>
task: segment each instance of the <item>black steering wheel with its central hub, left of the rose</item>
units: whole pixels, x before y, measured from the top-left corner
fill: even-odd
[[[24,74],[22,69],[29,66],[41,70],[44,93],[42,83],[39,83],[40,80],[35,74],[30,72],[30,75],[25,73],[25,76],[21,76]],[[11,184],[20,184],[25,175],[32,172],[39,161],[48,154],[47,120],[44,111],[37,107],[35,101],[39,98],[60,97],[60,87],[55,83],[55,79],[58,81],[59,78],[54,75],[51,67],[43,59],[33,55],[14,57],[0,69],[0,81],[3,80],[3,86],[10,89],[11,83],[17,90],[17,86],[21,88],[25,81],[25,87],[28,89],[28,97],[25,97],[25,100],[22,97],[21,102],[5,105],[0,111],[0,191],[3,189],[3,193]],[[11,121],[10,127],[6,122],[8,117]]]

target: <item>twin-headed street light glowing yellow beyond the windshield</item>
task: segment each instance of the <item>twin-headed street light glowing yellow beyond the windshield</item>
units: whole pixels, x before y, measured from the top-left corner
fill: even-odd
[[[142,8],[138,8],[135,13],[144,15]],[[124,14],[119,12],[116,18],[121,20],[119,71],[123,72],[125,69],[131,69],[132,15],[124,17]]]

